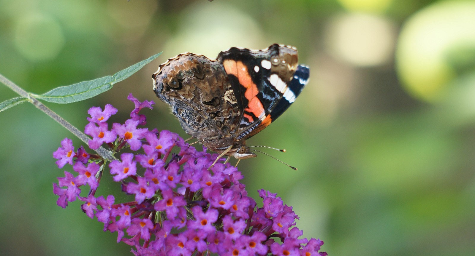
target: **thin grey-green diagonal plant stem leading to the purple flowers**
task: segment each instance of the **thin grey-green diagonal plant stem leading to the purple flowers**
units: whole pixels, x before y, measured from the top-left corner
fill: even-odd
[[[15,83],[11,82],[8,80],[6,77],[4,77],[2,74],[0,74],[0,82],[5,84],[7,87],[9,87],[11,90],[15,91],[18,93],[20,96],[28,98],[28,101],[33,104],[35,107],[37,107],[39,110],[45,112],[48,116],[50,116],[52,119],[55,119],[59,124],[61,124],[64,128],[68,129],[71,133],[76,135],[80,140],[82,140],[85,144],[89,141],[89,137],[87,137],[82,131],[80,131],[78,128],[74,127],[71,125],[69,122],[67,122],[65,119],[60,117],[57,113],[55,113],[53,110],[50,110],[47,106],[45,106],[43,103],[38,101],[35,97],[31,96],[27,91],[23,90],[21,87],[16,85]],[[105,149],[104,147],[99,147],[98,149],[95,150],[97,154],[101,155],[104,159],[107,159],[109,161],[113,161],[115,159],[114,155],[112,154],[111,151]]]

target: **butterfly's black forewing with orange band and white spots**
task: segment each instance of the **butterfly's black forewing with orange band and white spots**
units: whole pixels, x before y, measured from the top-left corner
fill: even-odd
[[[242,110],[235,140],[266,128],[295,101],[308,80],[309,69],[298,65],[297,50],[292,46],[274,44],[259,51],[233,47],[217,59]],[[295,80],[295,73],[307,78]]]

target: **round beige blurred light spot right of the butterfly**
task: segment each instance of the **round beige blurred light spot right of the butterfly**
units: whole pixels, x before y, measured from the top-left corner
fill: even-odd
[[[334,57],[355,66],[376,66],[392,59],[396,29],[386,18],[347,13],[332,18],[325,47]]]

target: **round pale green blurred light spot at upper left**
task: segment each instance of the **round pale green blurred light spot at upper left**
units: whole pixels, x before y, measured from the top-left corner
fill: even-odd
[[[53,59],[65,44],[59,23],[38,12],[26,12],[16,19],[14,38],[19,53],[30,61]]]

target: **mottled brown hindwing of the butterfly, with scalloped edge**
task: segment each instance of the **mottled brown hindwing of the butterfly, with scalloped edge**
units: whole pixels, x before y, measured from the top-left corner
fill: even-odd
[[[218,61],[181,54],[161,64],[152,78],[153,91],[171,106],[190,136],[206,140],[237,129],[240,109]]]

